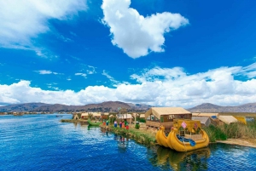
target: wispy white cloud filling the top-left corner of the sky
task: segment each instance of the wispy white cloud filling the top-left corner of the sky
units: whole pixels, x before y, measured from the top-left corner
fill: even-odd
[[[85,0],[0,1],[0,46],[34,50],[32,39],[49,31],[48,20],[67,20],[84,9]]]

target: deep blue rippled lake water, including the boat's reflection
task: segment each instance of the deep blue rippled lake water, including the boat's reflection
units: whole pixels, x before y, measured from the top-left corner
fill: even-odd
[[[256,149],[210,144],[180,153],[51,115],[0,116],[0,171],[256,170]]]

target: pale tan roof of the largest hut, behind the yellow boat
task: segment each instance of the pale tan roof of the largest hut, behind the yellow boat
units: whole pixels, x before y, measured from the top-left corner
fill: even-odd
[[[146,113],[145,117],[153,114],[155,117],[160,118],[162,115],[180,115],[191,114],[191,112],[183,109],[182,107],[151,107]]]

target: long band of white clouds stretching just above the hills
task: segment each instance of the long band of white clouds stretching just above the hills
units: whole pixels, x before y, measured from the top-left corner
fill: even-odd
[[[255,65],[254,63],[253,65]],[[192,107],[201,103],[216,105],[241,105],[256,100],[256,79],[236,80],[252,66],[220,67],[206,72],[188,74],[183,68],[160,68],[144,70],[131,75],[136,84],[119,83],[115,88],[89,86],[73,90],[49,91],[32,88],[29,81],[0,85],[0,103],[27,102],[85,105],[108,100],[144,103],[154,106]],[[104,73],[108,77],[108,73]],[[113,79],[113,77],[109,77]]]

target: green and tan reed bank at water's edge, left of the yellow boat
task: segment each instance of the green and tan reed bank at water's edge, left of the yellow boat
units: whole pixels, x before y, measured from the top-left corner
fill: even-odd
[[[134,124],[131,124],[129,129],[119,127],[115,128],[113,125],[100,125],[100,127],[113,132],[114,134],[127,136],[143,145],[156,145],[154,130],[145,130],[144,128],[137,129]]]

